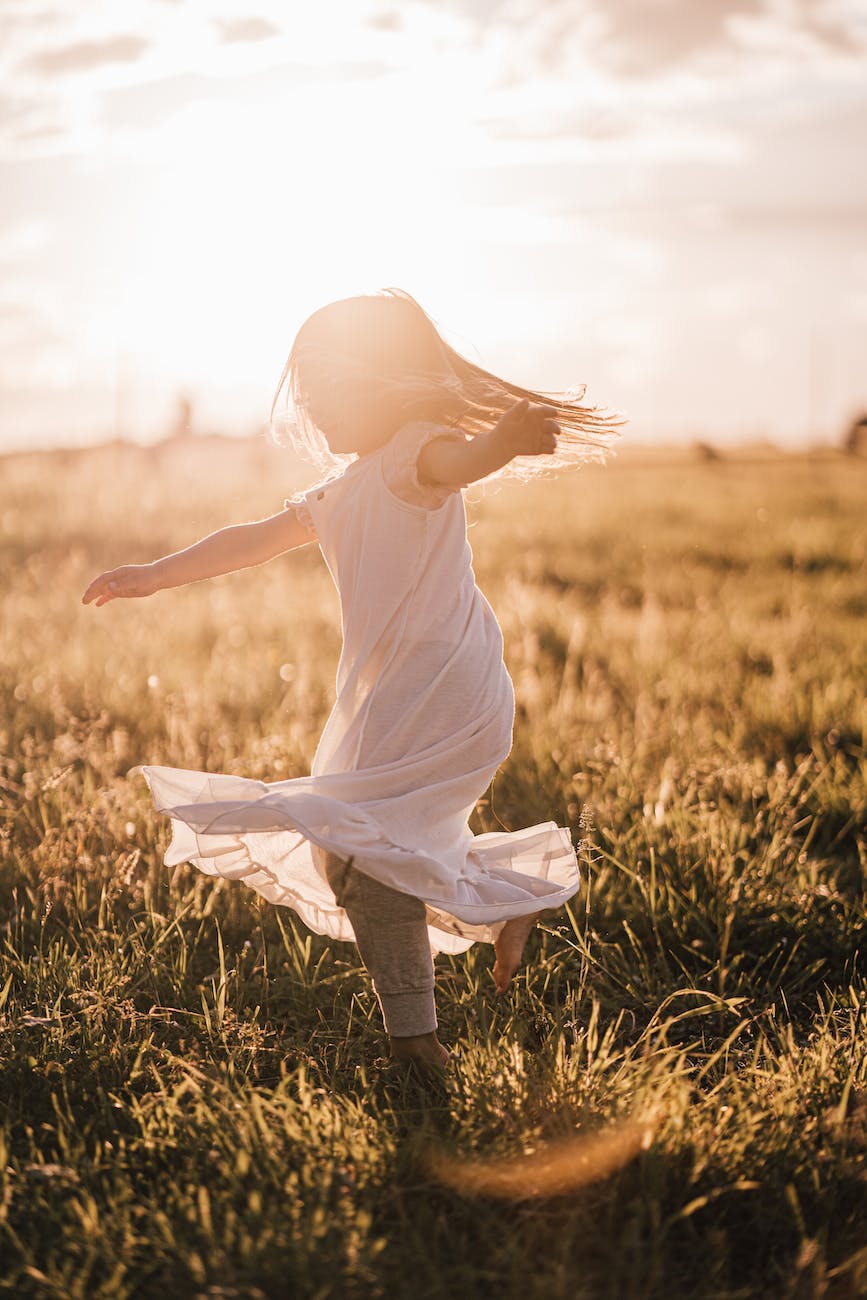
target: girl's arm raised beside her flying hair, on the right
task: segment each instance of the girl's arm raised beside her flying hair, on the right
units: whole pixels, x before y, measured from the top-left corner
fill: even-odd
[[[458,488],[486,478],[515,456],[550,456],[560,432],[555,415],[556,407],[521,398],[490,433],[478,433],[464,443],[434,438],[419,455],[419,481]]]

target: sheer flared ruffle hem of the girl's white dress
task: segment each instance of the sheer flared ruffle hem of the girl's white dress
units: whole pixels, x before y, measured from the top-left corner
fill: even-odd
[[[471,836],[456,872],[454,861],[395,844],[364,809],[321,793],[316,777],[266,783],[153,766],[129,775],[143,775],[156,809],[172,818],[166,866],[191,862],[209,876],[243,880],[331,939],[355,936],[312,844],[352,858],[390,888],[409,880],[407,892],[426,905],[434,952],[493,942],[503,922],[560,907],[580,888],[571,836],[554,822]]]

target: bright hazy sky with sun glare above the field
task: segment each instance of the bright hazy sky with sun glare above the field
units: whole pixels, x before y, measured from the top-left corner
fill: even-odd
[[[863,0],[3,0],[0,450],[261,433],[317,307],[641,442],[867,408]]]

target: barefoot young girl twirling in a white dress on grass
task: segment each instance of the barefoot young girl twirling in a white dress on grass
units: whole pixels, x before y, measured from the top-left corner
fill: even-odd
[[[432,953],[493,942],[503,993],[538,914],[580,883],[563,827],[468,827],[510,753],[515,696],[461,489],[599,458],[625,421],[578,406],[584,389],[549,399],[473,365],[394,289],[305,321],[272,428],[287,378],[292,442],[322,480],[269,519],[101,573],[82,599],[151,595],[318,542],[343,649],[311,776],[133,772],[173,819],[166,864],[243,880],[318,933],[355,940],[393,1054],[438,1067]]]

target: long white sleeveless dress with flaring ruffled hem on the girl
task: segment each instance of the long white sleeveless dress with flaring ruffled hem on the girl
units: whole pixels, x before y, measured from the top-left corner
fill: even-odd
[[[493,941],[502,923],[578,889],[554,822],[473,836],[468,818],[512,744],[515,696],[497,618],[476,586],[460,490],[420,485],[407,424],[338,477],[285,502],[318,540],[341,598],[337,699],[311,776],[255,781],[133,768],[172,818],[165,863],[192,862],[354,939],[311,844],[424,900],[433,952]],[[461,437],[460,434],[451,434]]]

